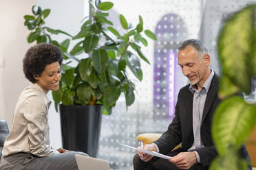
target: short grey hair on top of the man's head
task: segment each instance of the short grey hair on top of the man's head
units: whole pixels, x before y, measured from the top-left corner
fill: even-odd
[[[204,56],[205,53],[208,53],[208,49],[206,46],[203,45],[201,40],[197,39],[189,39],[189,40],[184,40],[180,46],[178,47],[178,50],[186,49],[188,46],[194,47],[198,52],[201,52]]]

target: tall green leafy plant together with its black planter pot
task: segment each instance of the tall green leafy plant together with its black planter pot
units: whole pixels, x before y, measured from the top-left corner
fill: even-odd
[[[147,46],[143,32],[156,40],[153,32],[144,30],[141,16],[138,25],[132,27],[120,14],[120,24],[125,29],[125,34],[120,34],[107,18],[113,5],[109,1],[90,3],[92,17],[83,19],[81,30],[75,36],[45,26],[50,9],[42,10],[34,5],[33,15],[24,16],[24,25],[31,30],[29,43],[49,42],[63,52],[60,87],[52,92],[56,110],[61,104],[63,147],[85,151],[90,156],[96,156],[102,110],[103,114],[111,114],[121,93],[125,95],[126,106],[134,103],[135,84],[127,76],[127,69],[142,80],[140,60],[149,64],[141,51],[141,45]],[[67,38],[58,42],[52,37],[56,34]],[[78,42],[70,49],[72,40]],[[78,58],[78,55],[84,57]],[[77,65],[71,66],[70,62]],[[79,131],[87,135],[77,134]]]

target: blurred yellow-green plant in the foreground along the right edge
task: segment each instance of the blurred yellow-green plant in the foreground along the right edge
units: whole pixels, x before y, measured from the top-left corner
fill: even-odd
[[[239,158],[239,148],[255,126],[256,106],[237,94],[249,94],[256,75],[255,8],[249,5],[231,16],[218,38],[222,63],[219,96],[224,101],[213,119],[213,140],[219,156],[211,170],[247,169],[247,162]]]

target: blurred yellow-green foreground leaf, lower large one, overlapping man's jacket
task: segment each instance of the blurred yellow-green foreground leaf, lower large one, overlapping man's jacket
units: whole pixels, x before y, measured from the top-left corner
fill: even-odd
[[[256,107],[246,104],[241,97],[222,101],[213,117],[213,141],[220,155],[228,153],[230,147],[239,149],[252,132],[256,123]]]

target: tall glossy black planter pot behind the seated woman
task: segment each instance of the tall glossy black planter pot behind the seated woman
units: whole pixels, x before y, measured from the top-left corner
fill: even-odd
[[[63,148],[83,151],[96,158],[103,106],[64,106],[61,104],[60,110]]]

